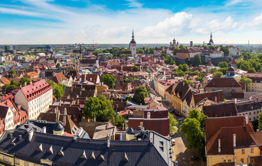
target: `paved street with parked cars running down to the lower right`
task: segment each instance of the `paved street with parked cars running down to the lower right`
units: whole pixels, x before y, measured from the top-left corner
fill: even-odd
[[[164,107],[171,107],[171,104],[166,105],[163,101],[161,101],[161,103],[163,104]],[[168,109],[168,112],[170,112],[171,110]],[[174,118],[177,119],[177,121],[179,122],[177,125],[177,133],[174,134],[174,136],[171,139],[175,139],[175,145],[172,146],[172,150],[173,150],[173,160],[174,161],[178,161],[179,165],[183,165],[183,166],[187,166],[187,165],[196,165],[196,166],[200,166],[200,161],[199,160],[191,160],[190,157],[191,156],[197,156],[197,153],[195,150],[189,150],[186,148],[187,145],[187,141],[185,137],[181,137],[181,133],[179,131],[180,129],[180,121],[178,120],[178,117],[173,114]]]

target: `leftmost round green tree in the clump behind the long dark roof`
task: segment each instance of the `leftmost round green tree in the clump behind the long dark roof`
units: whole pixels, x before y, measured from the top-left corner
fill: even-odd
[[[97,97],[89,97],[87,101],[85,101],[81,116],[84,116],[85,119],[93,121],[94,117],[97,117],[102,113],[103,108],[101,104],[102,102]]]

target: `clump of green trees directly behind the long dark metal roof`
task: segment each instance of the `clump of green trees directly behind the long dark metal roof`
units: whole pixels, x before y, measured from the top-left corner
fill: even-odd
[[[94,117],[97,122],[108,122],[111,119],[112,124],[121,127],[122,123],[125,123],[125,119],[122,116],[116,115],[112,105],[113,102],[108,100],[104,95],[89,97],[85,101],[81,116],[89,119],[90,122],[94,121]]]

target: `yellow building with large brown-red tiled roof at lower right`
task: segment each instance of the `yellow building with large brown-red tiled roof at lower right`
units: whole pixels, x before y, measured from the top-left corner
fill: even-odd
[[[237,165],[240,161],[247,164],[248,154],[260,155],[258,145],[249,133],[253,129],[244,116],[207,118],[205,125],[207,166],[235,160]]]

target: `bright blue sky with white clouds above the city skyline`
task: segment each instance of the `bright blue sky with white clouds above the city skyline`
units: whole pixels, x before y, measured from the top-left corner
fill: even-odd
[[[0,44],[260,44],[260,0],[1,0]]]

